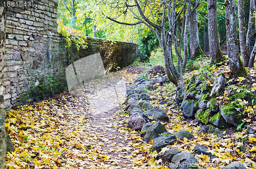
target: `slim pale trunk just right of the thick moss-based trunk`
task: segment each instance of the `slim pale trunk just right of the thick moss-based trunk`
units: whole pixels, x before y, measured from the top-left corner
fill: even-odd
[[[246,28],[244,21],[244,0],[238,0],[238,22],[239,22],[239,39],[240,50],[244,65],[247,67],[249,63],[249,53],[246,45]]]

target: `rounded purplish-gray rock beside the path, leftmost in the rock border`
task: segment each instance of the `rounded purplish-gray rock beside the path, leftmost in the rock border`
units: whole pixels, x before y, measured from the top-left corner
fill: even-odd
[[[128,119],[127,128],[135,131],[141,131],[145,123],[146,120],[139,113],[134,113]]]

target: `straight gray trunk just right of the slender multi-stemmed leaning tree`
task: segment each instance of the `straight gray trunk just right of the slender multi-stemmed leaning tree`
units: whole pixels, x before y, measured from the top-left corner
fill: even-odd
[[[191,1],[191,6],[196,7],[196,1]],[[199,35],[198,35],[198,19],[197,10],[190,12],[189,20],[189,47],[190,47],[190,59],[195,59],[198,52],[203,53],[200,47]]]

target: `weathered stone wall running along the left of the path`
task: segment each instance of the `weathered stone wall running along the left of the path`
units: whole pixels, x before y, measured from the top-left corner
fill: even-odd
[[[6,16],[4,67],[5,107],[46,99],[67,89],[65,69],[72,62],[100,53],[105,68],[126,66],[140,57],[135,43],[88,37],[88,48],[65,48],[57,33],[57,0],[31,2],[30,7],[9,7]]]

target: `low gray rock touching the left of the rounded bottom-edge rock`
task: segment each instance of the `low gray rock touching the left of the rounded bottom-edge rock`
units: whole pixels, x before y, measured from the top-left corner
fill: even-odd
[[[157,160],[159,160],[161,158],[162,164],[166,165],[166,167],[169,167],[168,164],[171,163],[173,157],[179,153],[181,153],[180,149],[172,148],[172,149],[167,150],[165,153],[158,155]]]

